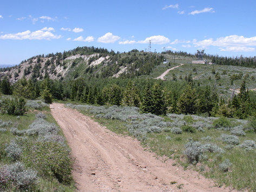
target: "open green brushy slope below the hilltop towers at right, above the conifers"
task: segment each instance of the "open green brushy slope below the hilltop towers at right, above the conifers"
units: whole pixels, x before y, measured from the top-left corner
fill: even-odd
[[[256,90],[256,69],[231,65],[191,64],[186,63],[185,60],[180,62],[183,65],[169,71],[164,77],[165,80],[185,82],[186,77],[188,80],[189,74],[191,74],[194,82],[202,86],[215,86],[218,94],[225,98],[231,97],[232,94],[238,94],[243,80],[246,81],[246,88]],[[177,65],[179,65],[178,62],[157,65],[150,75],[143,77],[156,78],[167,69]]]

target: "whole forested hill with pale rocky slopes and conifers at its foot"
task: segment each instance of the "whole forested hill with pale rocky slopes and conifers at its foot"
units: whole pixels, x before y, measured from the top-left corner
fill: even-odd
[[[213,61],[222,59],[205,57]],[[163,59],[169,63],[163,64]],[[135,106],[156,115],[172,112],[247,118],[255,114],[255,94],[247,89],[249,84],[254,90],[254,69],[189,64],[192,59],[195,55],[186,52],[157,54],[134,49],[115,53],[103,48],[77,47],[31,57],[14,68],[3,69],[1,92],[30,100],[42,97],[48,103],[52,99],[70,99],[88,104]],[[254,60],[228,58],[226,64],[235,61],[237,65],[253,67]],[[178,62],[185,65],[169,72],[167,81],[155,80]]]

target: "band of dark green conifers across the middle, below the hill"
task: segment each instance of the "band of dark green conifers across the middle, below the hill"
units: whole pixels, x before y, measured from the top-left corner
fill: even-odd
[[[145,82],[145,80],[143,80]],[[219,97],[214,87],[202,87],[186,82],[182,89],[174,85],[166,86],[159,80],[141,81],[127,79],[126,83],[106,83],[102,79],[94,84],[78,78],[73,81],[57,81],[45,78],[43,81],[26,80],[23,77],[14,85],[5,77],[0,81],[1,92],[30,100],[42,97],[45,102],[52,99],[68,100],[97,105],[126,105],[139,107],[142,112],[155,115],[167,113],[204,114],[205,116],[225,116],[247,118],[256,115],[255,100],[251,99],[242,81],[240,92],[224,100]],[[169,82],[172,84],[175,82]]]

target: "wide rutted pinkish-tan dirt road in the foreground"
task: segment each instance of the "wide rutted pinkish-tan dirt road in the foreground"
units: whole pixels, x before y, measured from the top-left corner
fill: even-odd
[[[50,108],[75,158],[79,191],[225,191],[192,170],[173,166],[172,160],[157,159],[136,139],[116,135],[76,110],[57,103]]]

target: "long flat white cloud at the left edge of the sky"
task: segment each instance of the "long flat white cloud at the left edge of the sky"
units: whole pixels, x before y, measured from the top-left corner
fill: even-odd
[[[17,34],[6,34],[6,35],[1,35],[0,39],[18,39],[18,40],[22,40],[22,39],[59,39],[61,38],[61,35],[54,35],[49,31],[42,31],[42,30],[38,30],[38,31],[23,31],[23,32],[18,32]]]

